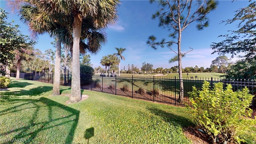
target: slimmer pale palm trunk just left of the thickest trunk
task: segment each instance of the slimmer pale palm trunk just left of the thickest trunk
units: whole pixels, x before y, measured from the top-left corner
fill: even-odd
[[[52,89],[53,96],[60,95],[60,55],[61,55],[60,44],[61,44],[60,39],[57,36],[55,65],[54,65],[55,72],[54,72],[54,81],[53,81],[53,89]]]

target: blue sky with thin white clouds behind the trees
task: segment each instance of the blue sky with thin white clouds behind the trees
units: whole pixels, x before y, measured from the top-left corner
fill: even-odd
[[[222,20],[227,20],[234,17],[235,10],[238,8],[248,6],[248,0],[238,0],[232,2],[231,0],[219,1],[218,8],[208,14],[210,24],[202,31],[196,29],[196,23],[192,23],[182,33],[182,52],[186,52],[190,48],[194,50],[186,54],[182,58],[182,67],[198,66],[209,68],[212,60],[218,57],[217,54],[211,54],[212,49],[210,44],[212,42],[220,42],[222,38],[218,38],[221,34],[227,34],[228,30],[236,28],[234,24],[221,24]],[[20,31],[23,34],[30,35],[28,26],[20,22],[18,14],[12,13],[10,8],[6,7],[6,2],[0,0],[1,8],[4,8],[9,13],[8,21],[15,21],[15,24],[20,25]],[[176,54],[168,48],[158,48],[154,50],[146,44],[148,36],[154,35],[158,40],[162,38],[168,39],[168,32],[164,28],[158,27],[158,19],[151,19],[154,12],[158,10],[156,3],[150,4],[149,1],[121,1],[118,8],[118,21],[114,25],[108,26],[105,30],[107,34],[107,43],[102,46],[102,50],[98,54],[91,55],[92,67],[100,65],[100,59],[108,54],[116,53],[115,47],[126,48],[123,56],[125,61],[121,61],[121,69],[128,69],[128,64],[141,68],[142,63],[150,63],[154,68],[163,67],[171,68],[178,65],[178,62],[169,64],[168,60]],[[39,35],[38,43],[34,48],[40,49],[44,52],[47,49],[54,50],[55,48],[50,44],[53,38],[48,34]],[[176,50],[174,45],[173,50]],[[229,55],[227,55],[229,57]],[[230,58],[230,57],[229,57]],[[233,59],[234,61],[235,59]],[[102,66],[103,68],[103,66]]]

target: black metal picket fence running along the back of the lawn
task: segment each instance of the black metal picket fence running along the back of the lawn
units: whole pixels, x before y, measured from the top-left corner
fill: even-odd
[[[12,73],[11,76],[15,77],[16,74]],[[32,73],[22,74],[22,76],[24,76],[25,79],[47,83],[53,83],[54,78],[54,74]],[[242,90],[242,88],[246,86],[249,89],[250,94],[254,95],[251,108],[253,110],[256,110],[256,82],[249,80],[219,80],[213,78],[192,77],[184,78],[182,80],[184,86],[184,99],[182,102],[179,102],[178,98],[180,94],[180,80],[176,77],[133,75],[120,77],[107,77],[100,75],[82,76],[88,77],[88,80],[90,80],[90,82],[88,82],[90,84],[84,84],[81,86],[82,89],[180,106],[191,104],[188,98],[188,92],[192,91],[192,86],[196,86],[196,88],[201,88],[204,80],[210,82],[211,87],[213,87],[214,83],[216,82],[222,82],[224,84],[224,87],[226,86],[226,84],[231,84],[234,91]],[[64,80],[65,77],[66,82]],[[60,78],[61,85],[71,86],[71,75],[64,76],[64,74],[61,74]]]

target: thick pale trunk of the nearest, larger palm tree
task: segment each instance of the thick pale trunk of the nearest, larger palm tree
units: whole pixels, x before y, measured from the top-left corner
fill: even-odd
[[[81,100],[80,89],[80,61],[79,61],[79,42],[82,28],[82,16],[75,14],[73,22],[73,55],[72,55],[72,81],[71,81],[71,102]]]

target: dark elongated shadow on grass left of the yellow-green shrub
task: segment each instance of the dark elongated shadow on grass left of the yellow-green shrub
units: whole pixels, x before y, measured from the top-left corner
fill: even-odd
[[[155,114],[156,116],[161,116],[165,122],[170,122],[173,125],[180,125],[182,127],[194,126],[194,123],[192,122],[192,120],[186,117],[165,112],[158,108],[147,108],[147,109],[150,110],[152,114]]]

